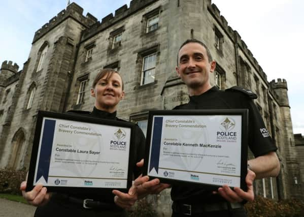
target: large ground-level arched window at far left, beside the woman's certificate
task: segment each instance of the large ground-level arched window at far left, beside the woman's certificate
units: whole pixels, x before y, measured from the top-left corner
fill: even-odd
[[[21,161],[21,149],[25,140],[24,132],[22,129],[19,129],[12,140],[12,155],[10,158],[9,167],[13,169],[20,169],[20,161]]]

